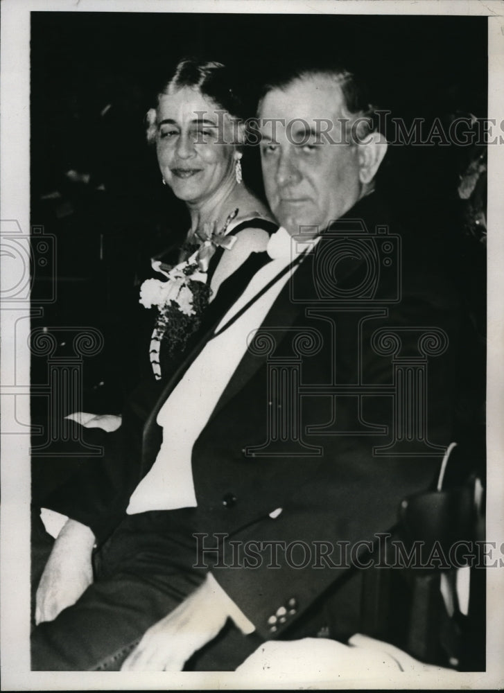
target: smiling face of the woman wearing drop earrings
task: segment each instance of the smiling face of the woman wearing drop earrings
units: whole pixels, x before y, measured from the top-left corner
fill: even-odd
[[[200,91],[183,87],[159,99],[157,160],[177,198],[198,204],[234,181],[232,121]]]

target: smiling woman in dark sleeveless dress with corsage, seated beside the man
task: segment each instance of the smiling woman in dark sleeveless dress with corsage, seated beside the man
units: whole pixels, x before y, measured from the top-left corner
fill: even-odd
[[[266,250],[270,234],[277,230],[268,208],[243,182],[241,159],[247,116],[250,114],[244,112],[227,68],[195,59],[177,64],[159,91],[157,107],[147,114],[147,139],[155,145],[162,182],[186,203],[191,226],[184,247],[177,253],[178,265],[168,267],[159,259],[153,261],[153,267],[165,274],[167,281],[150,279],[142,287],[141,302],[157,306],[158,315],[150,348],[146,344],[151,375],[125,403],[127,428],[143,427],[160,389],[189,349],[190,340],[196,342],[198,329],[225,314],[259,265],[247,263],[241,272],[236,270],[251,254]],[[151,300],[156,297],[158,302]],[[180,304],[184,310],[179,310]],[[83,438],[95,446],[106,446],[105,431],[121,426],[121,416],[114,414],[75,412],[67,419],[98,429],[87,431]],[[78,434],[76,439],[80,439]],[[89,464],[86,458],[58,458],[54,462],[55,467],[48,465],[47,459],[43,467],[33,466],[35,506],[43,507],[46,494],[64,482],[76,466]],[[47,511],[42,512],[42,518],[46,530],[58,536],[66,518]],[[34,532],[42,531],[42,527],[37,529],[39,521],[36,516]],[[34,585],[44,562],[39,565],[36,561],[33,566]],[[44,620],[43,611],[39,606],[37,622]]]

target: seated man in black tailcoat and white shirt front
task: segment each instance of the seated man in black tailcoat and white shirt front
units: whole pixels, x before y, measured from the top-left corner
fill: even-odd
[[[33,669],[180,670],[207,643],[234,667],[313,634],[328,591],[320,632],[360,628],[362,550],[452,439],[458,331],[431,248],[406,249],[375,199],[387,144],[370,116],[342,69],[266,87],[282,228],[145,425],[125,416],[103,463],[53,495],[71,520],[40,581]]]

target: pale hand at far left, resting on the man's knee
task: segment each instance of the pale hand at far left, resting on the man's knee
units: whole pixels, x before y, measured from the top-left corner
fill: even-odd
[[[35,624],[53,621],[75,604],[92,584],[94,534],[76,520],[67,520],[46,563],[35,603]]]

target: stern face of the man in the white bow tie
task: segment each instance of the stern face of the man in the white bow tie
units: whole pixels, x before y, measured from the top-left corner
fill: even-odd
[[[266,196],[278,222],[291,235],[299,234],[299,227],[311,226],[316,228],[302,232],[315,236],[360,196],[358,146],[350,143],[345,125],[338,122],[345,117],[340,87],[324,76],[296,80],[262,100]],[[327,130],[336,143],[320,134]]]

